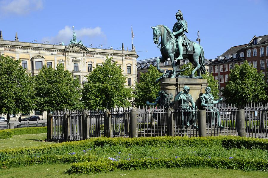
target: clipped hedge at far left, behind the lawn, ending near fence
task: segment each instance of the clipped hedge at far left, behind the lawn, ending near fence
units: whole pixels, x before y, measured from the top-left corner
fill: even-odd
[[[10,136],[10,132],[12,133]],[[47,127],[24,127],[0,130],[0,139],[12,138],[13,135],[47,133]]]

